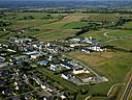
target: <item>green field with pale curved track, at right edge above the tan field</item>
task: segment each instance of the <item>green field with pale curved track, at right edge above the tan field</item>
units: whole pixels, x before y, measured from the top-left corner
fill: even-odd
[[[112,30],[108,32],[107,37],[111,39],[106,41],[105,44],[132,49],[132,30]]]

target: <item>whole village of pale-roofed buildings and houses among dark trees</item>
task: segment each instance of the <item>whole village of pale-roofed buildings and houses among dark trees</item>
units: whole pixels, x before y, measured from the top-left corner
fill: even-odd
[[[92,37],[45,43],[33,37],[10,37],[8,43],[0,44],[0,95],[11,100],[67,100],[69,97],[73,100],[72,95],[59,90],[39,70],[43,67],[76,85],[107,82],[105,76],[99,75],[90,66],[66,55],[71,51],[90,54],[106,50]]]

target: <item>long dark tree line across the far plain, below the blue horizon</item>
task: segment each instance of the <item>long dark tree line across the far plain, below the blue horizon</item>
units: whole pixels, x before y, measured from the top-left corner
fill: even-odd
[[[50,9],[42,9],[42,10],[23,10],[23,12],[47,12],[47,13],[121,13],[121,14],[130,14],[132,13],[131,8],[50,8]]]

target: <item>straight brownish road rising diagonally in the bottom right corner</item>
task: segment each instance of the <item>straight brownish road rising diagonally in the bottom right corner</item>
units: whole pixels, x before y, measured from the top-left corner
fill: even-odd
[[[126,85],[125,91],[120,100],[129,100],[131,91],[132,91],[132,74],[130,76],[130,79]]]

